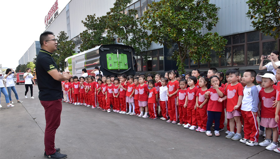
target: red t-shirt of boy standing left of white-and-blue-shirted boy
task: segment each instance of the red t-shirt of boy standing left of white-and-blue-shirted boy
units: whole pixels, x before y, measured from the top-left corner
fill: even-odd
[[[229,84],[227,89],[225,90],[225,95],[227,95],[227,112],[232,112],[234,110],[234,106],[237,105],[238,97],[243,95],[243,86],[241,83],[237,83],[236,85],[232,86]],[[241,112],[241,106],[237,109]]]

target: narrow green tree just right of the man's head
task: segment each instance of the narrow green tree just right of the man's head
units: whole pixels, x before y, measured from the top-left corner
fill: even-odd
[[[56,64],[59,66],[59,63],[62,63],[62,70],[64,70],[64,60],[65,58],[72,56],[75,51],[75,44],[73,41],[68,40],[69,36],[64,31],[59,32],[59,36],[57,36],[58,48],[59,50],[55,51],[53,54],[53,59]]]

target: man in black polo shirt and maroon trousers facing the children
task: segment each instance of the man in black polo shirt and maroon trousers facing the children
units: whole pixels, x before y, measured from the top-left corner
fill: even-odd
[[[39,89],[39,100],[45,109],[45,154],[48,159],[63,159],[67,155],[58,153],[54,148],[56,129],[60,125],[62,110],[61,81],[70,79],[70,72],[59,73],[53,60],[53,52],[57,50],[57,41],[53,32],[45,31],[40,35],[41,50],[36,60],[36,76]]]

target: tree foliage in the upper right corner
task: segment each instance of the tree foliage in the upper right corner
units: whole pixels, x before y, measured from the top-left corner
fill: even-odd
[[[280,34],[280,1],[249,0],[247,17],[254,19],[251,23],[255,30],[264,35],[273,36],[276,40]]]

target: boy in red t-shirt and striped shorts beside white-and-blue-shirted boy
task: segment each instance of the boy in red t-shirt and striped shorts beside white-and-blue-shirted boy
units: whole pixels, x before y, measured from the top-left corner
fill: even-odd
[[[240,140],[242,139],[241,131],[242,131],[242,124],[240,122],[241,118],[241,103],[243,99],[243,87],[242,84],[238,82],[239,79],[239,70],[232,69],[228,81],[231,82],[231,84],[227,85],[227,89],[225,90],[225,96],[221,98],[219,101],[223,101],[227,99],[227,118],[229,119],[229,127],[230,132],[227,134],[226,138],[230,138],[232,140]],[[236,128],[237,132],[234,132],[235,123],[236,122]]]

